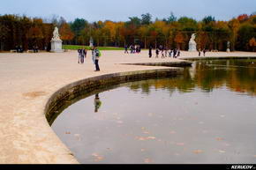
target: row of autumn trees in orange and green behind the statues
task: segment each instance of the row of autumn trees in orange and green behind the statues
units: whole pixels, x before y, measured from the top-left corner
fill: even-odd
[[[197,48],[225,51],[230,41],[231,50],[256,50],[256,13],[242,14],[229,21],[215,20],[207,16],[198,21],[194,18],[177,18],[172,12],[168,18],[156,18],[150,13],[141,17],[130,17],[128,21],[111,20],[89,23],[84,18],[66,22],[64,18],[54,18],[50,22],[42,18],[26,16],[0,16],[0,49],[10,50],[16,46],[25,49],[37,46],[50,48],[54,27],[64,44],[89,45],[90,37],[96,46],[124,47],[139,44],[142,48],[159,45],[168,48],[188,49],[192,33],[196,33]]]

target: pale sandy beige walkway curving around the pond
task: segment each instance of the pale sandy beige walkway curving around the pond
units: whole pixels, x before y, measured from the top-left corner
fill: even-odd
[[[195,57],[197,52],[182,52]],[[256,53],[207,53],[214,56],[256,56]],[[56,137],[43,109],[51,94],[64,85],[84,78],[132,70],[164,67],[119,63],[177,62],[177,59],[148,58],[123,51],[102,51],[100,72],[94,71],[91,54],[78,64],[76,51],[67,53],[0,53],[0,163],[78,163]]]

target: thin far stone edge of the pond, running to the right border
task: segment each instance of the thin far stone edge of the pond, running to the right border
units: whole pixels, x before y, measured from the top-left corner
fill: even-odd
[[[228,60],[228,59],[256,59],[256,56],[199,56],[199,57],[183,57],[182,60],[198,61],[198,60]]]

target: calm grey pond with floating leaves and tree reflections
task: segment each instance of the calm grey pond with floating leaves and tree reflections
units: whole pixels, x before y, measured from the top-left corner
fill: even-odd
[[[256,61],[198,61],[176,78],[109,87],[52,129],[80,163],[256,163]]]

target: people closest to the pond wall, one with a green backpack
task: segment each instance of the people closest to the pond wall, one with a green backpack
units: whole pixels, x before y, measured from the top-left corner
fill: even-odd
[[[100,60],[100,57],[102,54],[101,54],[100,50],[96,47],[91,48],[91,50],[92,50],[92,60],[95,65],[95,71],[100,71],[99,60]],[[78,53],[79,53],[79,62],[78,63],[84,63],[85,58],[87,57],[87,49],[86,48],[78,49]]]

